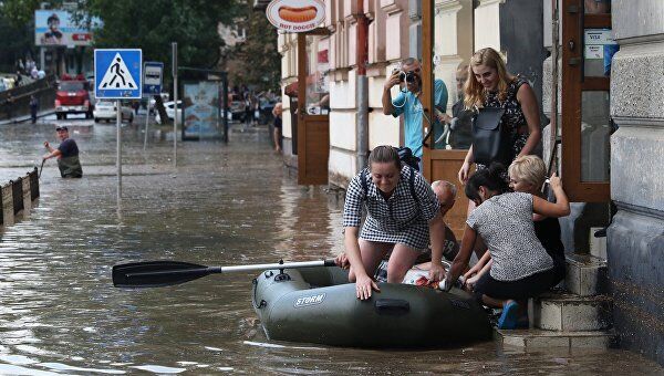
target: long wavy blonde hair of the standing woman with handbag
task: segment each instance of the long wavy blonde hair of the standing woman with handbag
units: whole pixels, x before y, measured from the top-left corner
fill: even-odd
[[[507,66],[505,60],[498,53],[498,51],[486,48],[481,49],[473,54],[470,58],[470,64],[468,65],[468,80],[464,84],[464,104],[466,108],[481,107],[485,100],[485,88],[475,79],[473,66],[485,65],[492,67],[498,73],[498,98],[505,101],[507,98],[507,85],[513,79]]]

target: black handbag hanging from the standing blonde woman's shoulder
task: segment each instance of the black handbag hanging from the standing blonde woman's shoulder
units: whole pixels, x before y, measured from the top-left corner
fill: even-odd
[[[473,156],[475,163],[491,161],[508,166],[511,160],[511,137],[502,124],[505,108],[484,107],[473,118]]]

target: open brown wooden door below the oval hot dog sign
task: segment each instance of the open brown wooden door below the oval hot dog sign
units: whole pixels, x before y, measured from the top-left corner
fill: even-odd
[[[328,184],[330,86],[328,30],[298,34],[298,184]]]

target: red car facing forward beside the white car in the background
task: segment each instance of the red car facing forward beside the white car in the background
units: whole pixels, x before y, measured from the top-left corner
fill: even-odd
[[[85,114],[92,118],[93,104],[90,100],[90,83],[82,75],[63,75],[55,93],[55,116],[66,118],[68,114]]]

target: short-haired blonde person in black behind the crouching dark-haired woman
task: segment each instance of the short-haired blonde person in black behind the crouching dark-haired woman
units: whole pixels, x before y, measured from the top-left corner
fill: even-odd
[[[526,192],[533,196],[543,197],[542,186],[547,179],[547,167],[544,161],[533,155],[519,157],[512,161],[508,168],[509,186],[516,192]],[[553,259],[557,276],[553,285],[564,279],[564,247],[560,241],[560,223],[558,218],[532,215],[535,221],[535,232],[542,243],[547,253]],[[466,283],[464,286],[473,291],[475,283],[479,278],[491,268],[491,253],[486,252],[484,257],[468,270],[464,276]]]

